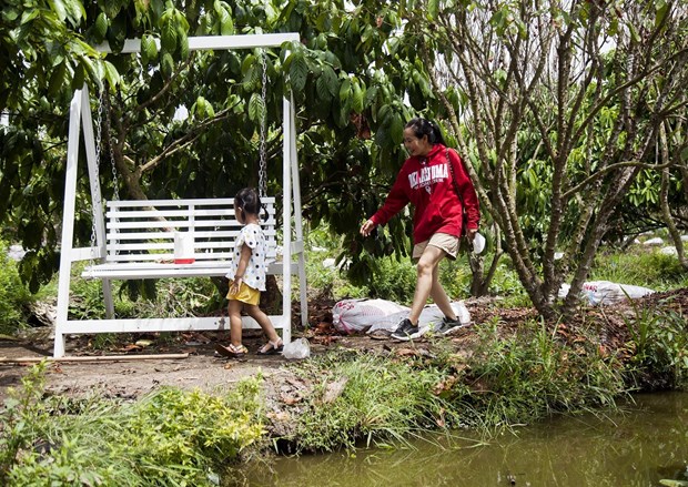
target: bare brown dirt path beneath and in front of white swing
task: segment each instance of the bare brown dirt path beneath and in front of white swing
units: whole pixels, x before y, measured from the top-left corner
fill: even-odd
[[[0,339],[0,357],[18,359],[22,357],[50,357],[52,341],[49,329],[39,329],[20,339]],[[189,337],[188,335],[185,337]],[[136,337],[140,339],[141,337]],[[244,377],[262,374],[265,387],[279,393],[280,384],[291,381],[293,374],[289,371],[287,361],[280,355],[259,356],[253,352],[262,343],[259,336],[245,337],[244,343],[252,353],[242,359],[225,359],[214,354],[216,341],[226,343],[221,334],[195,334],[193,338],[208,341],[184,339],[179,336],[173,343],[169,338],[148,336],[152,342],[144,349],[134,348],[134,344],[124,343],[119,348],[100,352],[104,355],[119,355],[124,351],[129,355],[121,361],[107,362],[51,362],[47,368],[47,389],[50,394],[60,394],[70,397],[81,397],[95,393],[103,397],[134,399],[161,386],[176,386],[182,388],[201,388],[206,392],[222,392],[231,388]],[[67,354],[70,356],[88,356],[94,352],[89,349],[89,339],[84,336],[71,338],[67,342]],[[318,343],[321,342],[321,343]],[[189,345],[193,343],[193,345]],[[311,353],[313,356],[326,353],[335,347],[347,348],[383,348],[398,346],[387,341],[375,341],[365,336],[358,337],[327,337],[327,339],[312,339]],[[188,354],[186,358],[152,358],[136,359],[138,355]],[[7,397],[8,387],[21,384],[21,377],[34,362],[0,363],[0,400]]]

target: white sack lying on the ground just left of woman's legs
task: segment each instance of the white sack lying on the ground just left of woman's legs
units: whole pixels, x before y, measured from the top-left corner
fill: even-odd
[[[341,333],[365,332],[396,313],[408,308],[386,300],[343,300],[332,307],[332,324]]]

